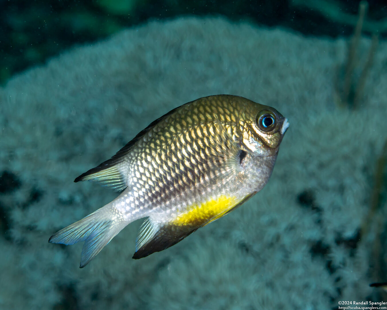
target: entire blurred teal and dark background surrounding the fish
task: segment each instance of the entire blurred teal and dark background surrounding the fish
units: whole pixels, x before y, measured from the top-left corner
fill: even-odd
[[[383,2],[354,36],[355,2],[0,4],[1,309],[387,301],[370,287],[387,281]],[[75,177],[172,108],[221,93],[289,119],[260,193],[140,260],[141,221],[84,269],[82,245],[48,243],[116,197]]]

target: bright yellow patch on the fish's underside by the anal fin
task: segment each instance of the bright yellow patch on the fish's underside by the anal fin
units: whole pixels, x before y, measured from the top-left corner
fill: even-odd
[[[203,226],[219,219],[234,207],[239,200],[235,196],[221,195],[200,204],[189,206],[187,212],[179,214],[171,224],[177,226]]]

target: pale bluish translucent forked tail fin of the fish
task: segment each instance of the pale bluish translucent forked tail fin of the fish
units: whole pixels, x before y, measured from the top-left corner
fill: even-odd
[[[73,245],[85,241],[79,268],[83,268],[120,232],[128,222],[108,205],[53,234],[48,242]]]

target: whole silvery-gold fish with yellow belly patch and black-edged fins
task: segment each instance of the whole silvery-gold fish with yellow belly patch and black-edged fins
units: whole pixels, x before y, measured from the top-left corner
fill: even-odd
[[[239,96],[208,96],[175,108],[75,179],[122,193],[49,241],[85,241],[84,267],[123,227],[146,218],[133,258],[175,245],[264,187],[287,128],[276,109]]]

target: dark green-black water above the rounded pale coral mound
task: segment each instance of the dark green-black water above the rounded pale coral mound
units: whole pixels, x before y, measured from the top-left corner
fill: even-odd
[[[368,19],[387,17],[384,0],[368,1]],[[120,29],[179,15],[222,15],[232,21],[283,26],[307,36],[349,36],[359,1],[6,1],[0,2],[0,84],[42,64],[74,44],[96,41]],[[351,18],[353,15],[354,18]],[[378,31],[366,25],[364,33]],[[385,32],[381,36],[385,36]]]

